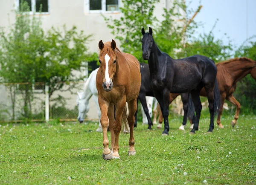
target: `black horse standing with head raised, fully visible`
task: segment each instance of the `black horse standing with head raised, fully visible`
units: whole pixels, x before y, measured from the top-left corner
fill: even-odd
[[[214,114],[218,113],[218,107],[221,107],[221,97],[216,79],[217,67],[214,61],[202,55],[193,55],[175,60],[160,51],[154,42],[150,27],[148,33],[145,33],[144,28],[141,32],[143,35],[143,59],[148,60],[151,86],[163,114],[163,135],[167,135],[169,132],[170,93],[191,93],[196,116],[193,121],[194,127],[190,133],[195,133],[195,130],[198,130],[202,110],[199,93],[203,87],[207,92],[209,112],[211,115],[208,132],[212,132],[214,128]]]

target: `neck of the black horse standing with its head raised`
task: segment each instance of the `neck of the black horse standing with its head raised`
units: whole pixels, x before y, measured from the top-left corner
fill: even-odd
[[[152,52],[149,55],[148,58],[148,66],[150,70],[150,74],[154,74],[155,72],[158,72],[159,70],[159,61],[158,56],[161,54],[160,49],[157,47],[156,43],[153,41],[152,45]]]

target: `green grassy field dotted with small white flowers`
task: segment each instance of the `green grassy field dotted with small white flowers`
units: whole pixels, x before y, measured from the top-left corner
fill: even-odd
[[[139,123],[136,156],[121,134],[121,159],[111,161],[96,123],[2,124],[0,184],[256,184],[256,116],[241,115],[234,128],[232,119],[206,134],[202,116],[195,136],[177,130],[181,117],[170,120],[169,136]]]

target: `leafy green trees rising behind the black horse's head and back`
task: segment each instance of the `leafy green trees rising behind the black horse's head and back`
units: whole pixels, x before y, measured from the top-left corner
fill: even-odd
[[[123,16],[120,20],[105,17],[108,27],[113,35],[121,42],[124,52],[131,53],[140,62],[142,58],[141,29],[148,26],[153,29],[154,39],[161,49],[173,58],[184,58],[191,55],[205,55],[218,62],[230,58],[232,51],[231,42],[227,45],[221,39],[215,39],[212,31],[194,37],[195,31],[201,23],[192,21],[188,14],[195,10],[189,9],[184,1],[174,1],[167,10],[163,9],[163,19],[154,16],[155,4],[159,0],[123,0],[120,8]],[[213,28],[215,25],[213,26]],[[147,62],[147,61],[144,61]]]

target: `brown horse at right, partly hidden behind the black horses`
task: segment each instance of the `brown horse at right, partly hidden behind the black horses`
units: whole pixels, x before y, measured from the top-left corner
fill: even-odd
[[[218,86],[221,93],[221,109],[219,110],[219,115],[217,119],[217,124],[220,128],[224,128],[221,124],[221,113],[223,110],[223,104],[225,99],[230,103],[236,105],[236,114],[234,119],[231,121],[231,125],[234,127],[236,121],[239,117],[240,112],[240,104],[233,96],[234,91],[236,90],[236,83],[244,78],[246,75],[251,74],[251,76],[256,80],[256,61],[251,60],[250,58],[234,58],[229,61],[220,62],[216,64],[218,72],[217,72],[217,80]],[[170,96],[170,103],[177,97],[178,94],[173,94]],[[206,96],[206,92],[204,89],[200,92],[201,96]],[[160,111],[159,104],[157,105],[157,112],[159,115],[159,123],[163,122],[163,116]],[[154,116],[157,116],[154,114]],[[191,120],[190,120],[191,123]],[[160,126],[158,126],[160,127]],[[180,130],[184,130],[182,126],[179,128]]]

